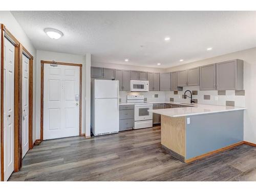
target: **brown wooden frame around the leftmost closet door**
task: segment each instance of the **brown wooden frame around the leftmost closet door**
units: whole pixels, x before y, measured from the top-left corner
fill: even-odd
[[[4,181],[4,38],[8,38],[14,45],[14,172],[20,168],[20,127],[22,118],[22,79],[20,74],[20,49],[19,41],[1,24],[1,180]]]

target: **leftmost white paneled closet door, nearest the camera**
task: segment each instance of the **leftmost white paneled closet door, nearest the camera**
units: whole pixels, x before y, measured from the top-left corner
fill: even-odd
[[[14,170],[14,46],[4,40],[4,180]]]

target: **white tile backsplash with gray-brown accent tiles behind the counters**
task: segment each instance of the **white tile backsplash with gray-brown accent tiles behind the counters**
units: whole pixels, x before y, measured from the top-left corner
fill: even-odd
[[[174,102],[190,102],[190,98],[184,99],[184,92],[190,90],[193,94],[193,99],[196,99],[200,104],[215,104],[215,105],[233,105],[245,106],[245,92],[227,90],[227,91],[200,91],[199,86],[183,87],[183,91],[150,91],[150,92],[127,92],[119,91],[119,101],[126,102],[126,95],[144,95],[147,102],[150,101],[174,101]],[[189,95],[189,93],[186,93]],[[158,95],[158,97],[156,97]],[[226,102],[228,101],[228,102]],[[230,101],[234,101],[230,102]]]

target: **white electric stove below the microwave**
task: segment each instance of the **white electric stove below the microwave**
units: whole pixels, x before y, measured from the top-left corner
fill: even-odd
[[[134,104],[135,130],[153,126],[153,114],[148,112],[153,109],[153,104],[144,102],[144,95],[127,95],[126,102]]]

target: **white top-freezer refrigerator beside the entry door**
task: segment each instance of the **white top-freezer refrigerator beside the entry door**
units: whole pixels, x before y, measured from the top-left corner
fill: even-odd
[[[91,127],[94,136],[119,131],[119,81],[92,79]]]

